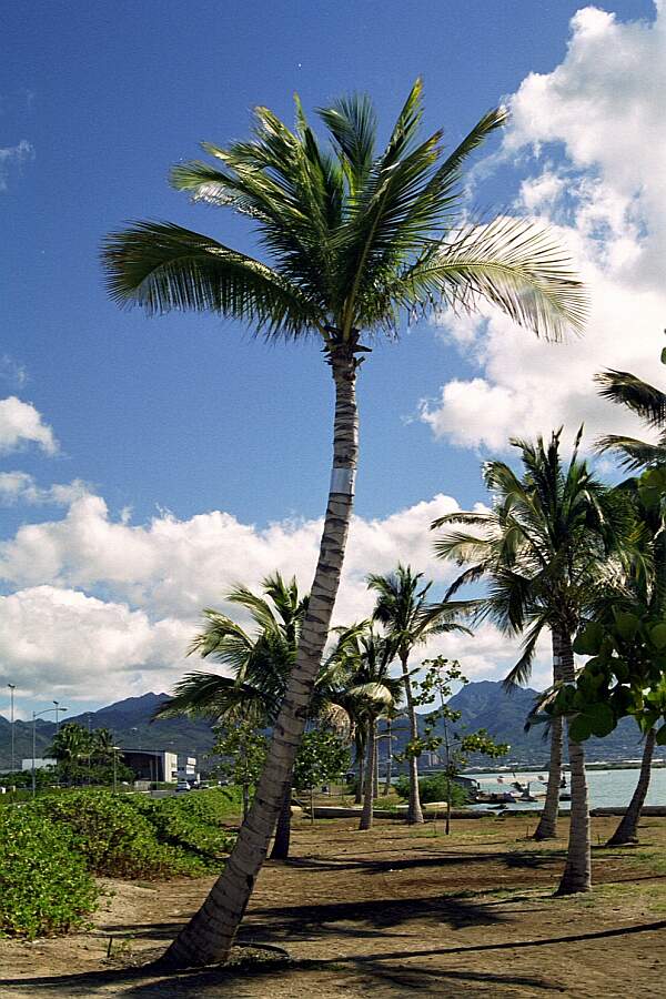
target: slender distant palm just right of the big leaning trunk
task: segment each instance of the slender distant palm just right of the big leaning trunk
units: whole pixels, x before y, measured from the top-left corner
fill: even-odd
[[[394,573],[385,576],[371,574],[367,577],[369,587],[377,594],[377,602],[372,614],[373,620],[380,622],[387,629],[395,643],[402,666],[410,720],[410,741],[413,747],[416,746],[418,739],[418,722],[410,679],[410,656],[417,645],[425,645],[436,635],[454,630],[468,630],[455,620],[455,610],[446,603],[431,604],[427,602],[432,583],[424,584],[422,579],[423,573],[414,573],[411,566],[400,564]],[[416,753],[408,754],[407,759],[410,766],[407,821],[423,823]]]

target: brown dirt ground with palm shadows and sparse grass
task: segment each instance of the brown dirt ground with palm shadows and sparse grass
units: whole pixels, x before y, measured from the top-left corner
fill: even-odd
[[[211,880],[107,882],[115,894],[91,931],[0,941],[0,997],[663,999],[666,819],[644,820],[640,847],[608,850],[616,821],[593,820],[595,889],[555,899],[565,820],[544,845],[524,815],[458,820],[451,837],[432,824],[359,833],[349,819],[305,820],[293,859],[262,871],[240,938],[275,948],[272,960],[158,975],[148,962]]]

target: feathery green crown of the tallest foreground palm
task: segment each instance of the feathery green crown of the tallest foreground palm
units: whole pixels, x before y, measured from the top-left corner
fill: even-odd
[[[401,313],[471,310],[480,296],[545,336],[581,327],[582,285],[545,231],[507,216],[462,221],[461,168],[505,110],[484,114],[447,155],[442,132],[418,137],[422,113],[417,81],[379,151],[366,97],[320,109],[326,143],[297,98],[293,130],[256,108],[249,141],[204,143],[213,162],[178,165],[171,181],[248,215],[268,262],[180,225],[141,222],[107,239],[111,295],[151,313],[216,312],[268,336],[317,334],[329,346],[360,330],[393,335]]]

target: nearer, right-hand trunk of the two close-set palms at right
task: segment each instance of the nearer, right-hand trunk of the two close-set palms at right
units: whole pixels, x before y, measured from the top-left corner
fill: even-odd
[[[562,655],[562,678],[573,683],[576,678],[571,636],[559,633]],[[566,865],[557,895],[575,895],[592,888],[592,849],[589,839],[589,805],[587,801],[587,777],[585,775],[585,750],[581,743],[568,736],[569,770],[572,775],[572,813]]]

